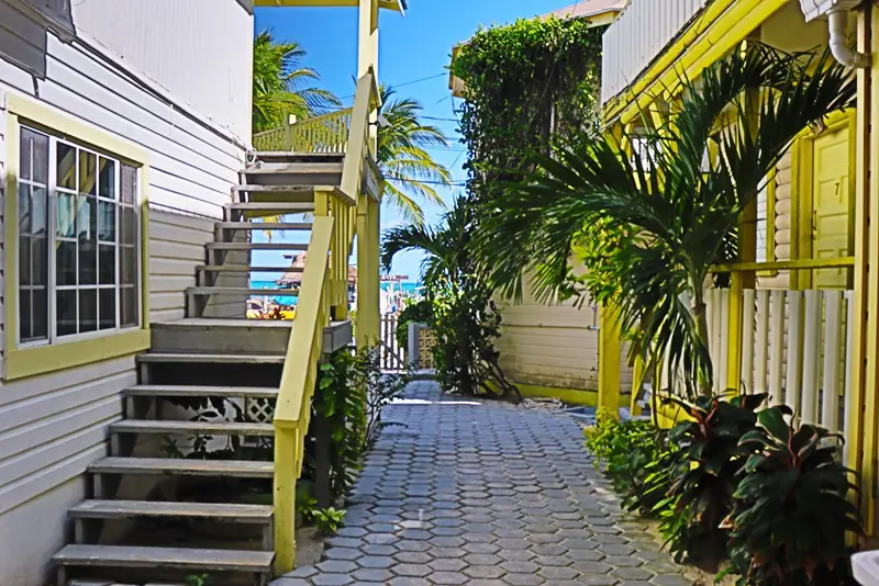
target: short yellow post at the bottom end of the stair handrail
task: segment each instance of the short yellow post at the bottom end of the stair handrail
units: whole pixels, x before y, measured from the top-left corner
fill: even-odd
[[[275,426],[275,573],[296,567],[296,480],[299,430]]]

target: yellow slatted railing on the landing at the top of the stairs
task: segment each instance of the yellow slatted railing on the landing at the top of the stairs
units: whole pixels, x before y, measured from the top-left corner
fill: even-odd
[[[344,154],[353,111],[348,108],[257,133],[254,147],[257,150]]]

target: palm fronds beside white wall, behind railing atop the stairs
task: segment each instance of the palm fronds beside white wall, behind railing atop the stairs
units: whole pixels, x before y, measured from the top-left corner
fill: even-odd
[[[320,114],[325,108],[338,106],[332,92],[310,87],[320,75],[301,67],[305,50],[299,43],[280,43],[270,31],[254,38],[254,108],[253,132],[258,133],[287,124],[290,115],[298,119]]]

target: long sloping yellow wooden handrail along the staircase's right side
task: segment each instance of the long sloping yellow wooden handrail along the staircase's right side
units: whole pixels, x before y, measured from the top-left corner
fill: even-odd
[[[347,114],[347,119],[334,119],[351,121],[351,137],[346,134],[343,140],[341,131],[335,138],[331,136],[333,139],[329,142],[324,142],[325,135],[316,132],[308,135],[316,137],[318,144],[311,143],[305,151],[325,153],[327,150],[319,149],[327,148],[326,145],[332,144],[333,148],[345,151],[345,162],[341,189],[315,193],[308,260],[302,273],[296,323],[287,347],[275,408],[275,570],[279,574],[291,571],[296,565],[296,484],[302,471],[304,439],[318,382],[321,341],[334,307],[336,319],[346,317],[340,314],[347,312],[348,258],[355,234],[358,237],[358,252],[368,248],[370,257],[378,257],[377,239],[364,237],[360,230],[361,217],[368,221],[364,222],[365,225],[378,224],[377,205],[367,205],[367,199],[361,191],[364,168],[368,165],[370,154],[369,115],[377,103],[378,91],[370,71],[357,83],[353,112]],[[296,139],[289,144],[297,146]],[[369,217],[369,214],[375,217]],[[375,270],[364,266],[358,269],[358,288],[371,282],[378,283],[378,262],[375,263]],[[363,294],[358,293],[358,296]],[[369,313],[368,308],[358,311]],[[369,319],[364,323],[363,316],[359,317],[358,333],[364,328],[369,330]],[[375,322],[378,323],[378,315],[375,316]],[[367,334],[377,337],[377,331]]]

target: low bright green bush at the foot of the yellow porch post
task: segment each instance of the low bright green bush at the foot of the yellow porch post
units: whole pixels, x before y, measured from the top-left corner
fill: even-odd
[[[604,408],[598,410],[596,426],[583,433],[596,466],[603,466],[613,489],[623,496],[623,507],[653,510],[668,488],[668,478],[659,472],[678,453],[667,433],[649,421],[617,421]]]

